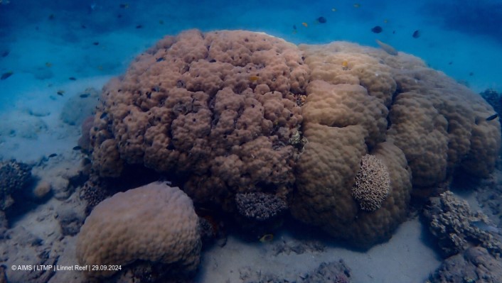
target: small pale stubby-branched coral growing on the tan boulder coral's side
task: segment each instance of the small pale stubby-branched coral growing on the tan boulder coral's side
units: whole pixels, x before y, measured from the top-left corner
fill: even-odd
[[[380,209],[390,189],[390,177],[387,166],[374,155],[365,155],[361,160],[361,169],[356,175],[356,184],[352,196],[358,201],[363,211]]]

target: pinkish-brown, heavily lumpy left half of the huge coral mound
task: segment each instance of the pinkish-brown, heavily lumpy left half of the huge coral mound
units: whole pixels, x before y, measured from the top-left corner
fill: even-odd
[[[107,85],[92,131],[94,165],[188,174],[196,201],[228,192],[287,192],[302,121],[294,94],[308,68],[295,45],[260,33],[190,30],[168,36]],[[233,201],[233,198],[229,198]]]

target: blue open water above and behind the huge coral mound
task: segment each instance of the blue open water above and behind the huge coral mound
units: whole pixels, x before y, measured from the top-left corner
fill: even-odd
[[[376,46],[379,39],[475,91],[502,88],[502,4],[497,1],[6,2],[0,4],[0,54],[9,55],[0,57],[0,73],[14,74],[0,81],[0,111],[34,90],[68,83],[68,77],[120,74],[163,35],[188,28],[242,28],[293,43],[348,40]],[[326,23],[316,23],[319,16]],[[374,26],[383,32],[372,33]],[[415,30],[420,38],[412,38]]]

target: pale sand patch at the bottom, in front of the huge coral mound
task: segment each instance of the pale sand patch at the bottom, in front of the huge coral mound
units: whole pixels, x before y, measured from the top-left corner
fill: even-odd
[[[402,223],[388,243],[376,245],[366,253],[328,245],[323,253],[274,255],[274,244],[294,242],[287,233],[271,243],[245,243],[230,236],[227,244],[215,245],[203,254],[196,282],[242,282],[239,270],[251,267],[262,274],[277,274],[290,281],[314,270],[321,262],[343,259],[351,268],[354,283],[424,282],[439,267],[439,256],[422,241],[422,225],[417,218]]]

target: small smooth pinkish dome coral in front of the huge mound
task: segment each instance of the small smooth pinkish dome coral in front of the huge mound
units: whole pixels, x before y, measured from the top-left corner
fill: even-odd
[[[190,198],[177,187],[151,183],[105,199],[80,229],[76,255],[81,265],[128,265],[136,260],[178,272],[198,267],[201,239]],[[116,270],[91,270],[108,277]]]

